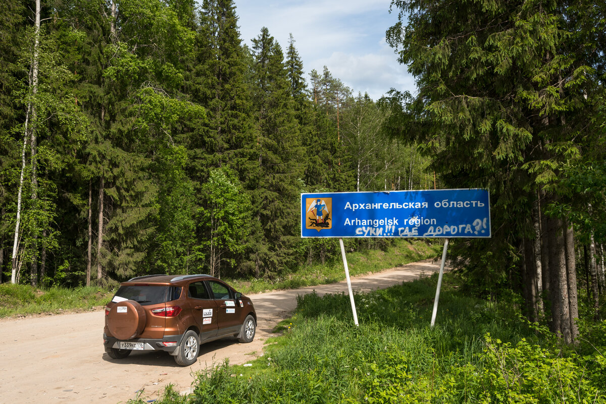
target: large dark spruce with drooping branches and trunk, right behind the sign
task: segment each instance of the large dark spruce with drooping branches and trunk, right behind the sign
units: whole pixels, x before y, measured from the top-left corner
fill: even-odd
[[[587,80],[591,67],[571,41],[570,4],[394,4],[401,19],[388,31],[388,41],[418,78],[419,94],[407,114],[395,111],[392,123],[399,125],[391,125],[392,132],[424,143],[447,186],[488,187],[492,194],[493,239],[463,242],[453,254],[467,257],[467,268],[476,279],[485,278],[485,287],[499,277],[505,283],[519,276],[519,263],[533,262],[519,252],[524,238],[535,237],[531,204],[541,195],[551,329],[571,342],[576,302],[568,296],[576,296],[576,284],[566,273],[576,269],[567,268],[573,263],[562,254],[565,229],[548,208],[562,200],[558,183],[578,152],[575,138],[585,125],[577,111],[590,102],[584,92],[593,84]],[[518,272],[507,273],[511,268]]]

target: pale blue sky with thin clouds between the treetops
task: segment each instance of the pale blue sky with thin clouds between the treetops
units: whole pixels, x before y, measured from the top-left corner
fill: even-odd
[[[389,13],[390,0],[235,0],[245,44],[267,27],[288,48],[293,34],[305,77],[324,66],[357,94],[374,100],[390,88],[415,94],[414,78],[398,64],[385,31],[398,21]]]

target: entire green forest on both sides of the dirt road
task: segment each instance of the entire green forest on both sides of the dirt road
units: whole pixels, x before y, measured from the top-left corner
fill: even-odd
[[[301,192],[481,187],[493,237],[452,265],[575,340],[606,285],[606,5],[390,11],[418,93],[372,100],[306,74],[292,36],[243,45],[231,0],[0,4],[0,281],[272,277],[338,253],[299,237]]]

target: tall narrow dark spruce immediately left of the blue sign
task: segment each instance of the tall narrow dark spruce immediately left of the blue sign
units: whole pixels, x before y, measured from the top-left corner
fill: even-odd
[[[294,262],[302,148],[284,54],[267,28],[253,39],[251,55],[259,175],[252,187],[256,237],[250,262],[255,273],[271,275]]]

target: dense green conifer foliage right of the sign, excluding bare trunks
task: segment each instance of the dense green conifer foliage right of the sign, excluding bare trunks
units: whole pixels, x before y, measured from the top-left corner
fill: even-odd
[[[539,234],[539,214],[571,224],[584,242],[604,233],[604,58],[587,52],[604,37],[586,20],[602,27],[604,8],[587,8],[585,1],[392,2],[399,21],[387,41],[419,93],[392,92],[385,131],[418,144],[445,187],[490,189],[490,242],[456,241],[449,252],[479,296],[526,287],[536,252],[524,246]],[[539,248],[556,253],[554,244]],[[558,270],[551,261],[542,263],[544,279]],[[531,293],[525,298],[535,304]],[[559,327],[563,306],[555,293],[551,299]]]

